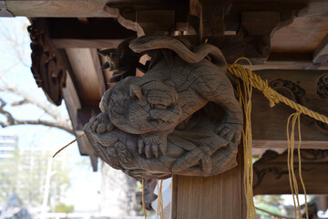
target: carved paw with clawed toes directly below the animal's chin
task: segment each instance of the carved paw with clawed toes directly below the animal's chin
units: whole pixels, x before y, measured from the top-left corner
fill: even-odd
[[[159,157],[159,152],[165,154],[167,148],[167,137],[159,137],[155,135],[141,135],[138,140],[139,154],[145,154],[149,159],[152,156]]]

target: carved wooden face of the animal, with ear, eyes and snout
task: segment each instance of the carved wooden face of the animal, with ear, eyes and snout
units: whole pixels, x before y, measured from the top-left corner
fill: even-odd
[[[149,78],[119,81],[103,96],[100,109],[108,110],[118,129],[132,134],[172,129],[181,116],[174,83]]]

